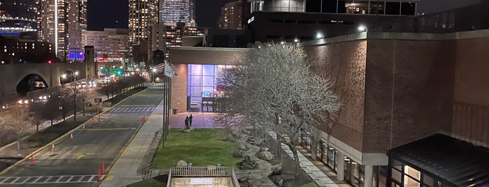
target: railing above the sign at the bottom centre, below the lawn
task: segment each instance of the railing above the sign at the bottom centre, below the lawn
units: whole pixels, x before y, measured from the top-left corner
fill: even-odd
[[[171,186],[172,177],[232,177],[233,186],[239,187],[236,173],[232,167],[171,167],[167,187]]]

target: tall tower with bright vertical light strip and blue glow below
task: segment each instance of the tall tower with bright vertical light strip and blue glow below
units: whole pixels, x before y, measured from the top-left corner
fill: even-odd
[[[87,24],[86,4],[87,0],[41,0],[39,40],[53,44],[58,58],[78,59],[78,53],[83,52],[81,31]]]

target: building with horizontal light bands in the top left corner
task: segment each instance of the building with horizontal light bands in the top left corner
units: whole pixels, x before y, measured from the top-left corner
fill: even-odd
[[[38,0],[0,0],[0,32],[37,31]]]

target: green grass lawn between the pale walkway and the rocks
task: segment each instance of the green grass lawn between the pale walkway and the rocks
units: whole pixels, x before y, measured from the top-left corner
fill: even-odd
[[[199,128],[192,133],[182,133],[181,129],[171,129],[164,147],[158,145],[153,161],[157,169],[169,169],[176,166],[178,160],[192,163],[192,166],[221,164],[222,167],[234,167],[243,158],[232,156],[239,143],[222,141],[230,132],[227,129]]]

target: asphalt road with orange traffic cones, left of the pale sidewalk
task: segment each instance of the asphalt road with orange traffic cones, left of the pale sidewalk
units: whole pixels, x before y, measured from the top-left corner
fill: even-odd
[[[155,85],[111,107],[101,121],[88,121],[85,130],[61,137],[0,176],[0,186],[99,186],[99,168],[115,163],[129,141],[163,99],[162,85]],[[102,169],[101,169],[102,170]],[[104,176],[102,176],[104,177]]]

